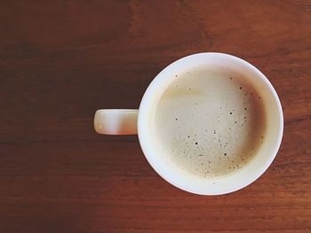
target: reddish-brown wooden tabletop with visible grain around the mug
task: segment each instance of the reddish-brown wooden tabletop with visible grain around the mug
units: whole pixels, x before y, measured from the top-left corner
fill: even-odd
[[[188,54],[267,75],[281,149],[258,181],[202,197],[163,181],[137,136],[100,136],[97,108],[138,108]],[[311,232],[310,1],[1,1],[1,232]]]

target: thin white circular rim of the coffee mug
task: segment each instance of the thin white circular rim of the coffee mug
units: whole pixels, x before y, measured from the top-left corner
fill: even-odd
[[[181,183],[177,183],[174,182],[173,179],[171,179],[171,177],[169,175],[165,174],[165,171],[163,171],[162,167],[159,167],[159,165],[156,163],[156,159],[152,157],[151,152],[148,149],[148,144],[146,142],[145,136],[144,134],[146,134],[147,130],[144,127],[141,127],[141,122],[143,120],[145,120],[145,117],[147,117],[147,113],[148,113],[148,106],[149,106],[149,101],[150,101],[150,97],[153,94],[153,91],[157,85],[157,81],[159,81],[160,79],[163,79],[163,73],[169,69],[171,69],[174,66],[177,66],[179,63],[184,62],[187,59],[191,59],[191,58],[197,58],[197,57],[212,57],[212,56],[216,56],[216,57],[226,57],[226,58],[230,58],[230,59],[234,59],[235,61],[243,64],[243,66],[247,66],[248,68],[251,68],[251,70],[255,71],[259,78],[264,81],[265,86],[267,86],[267,88],[272,92],[273,95],[273,99],[275,100],[275,104],[277,105],[277,113],[278,113],[278,120],[279,120],[279,126],[278,126],[278,132],[277,132],[277,142],[273,147],[273,151],[271,152],[271,154],[268,156],[267,161],[265,161],[265,166],[262,167],[262,169],[260,169],[259,171],[257,171],[257,175],[252,176],[251,178],[246,178],[246,182],[240,183],[239,185],[236,185],[234,189],[231,190],[227,190],[226,188],[224,188],[221,191],[212,191],[212,190],[195,190],[192,189],[192,187],[189,187],[187,185],[183,185],[182,182]],[[267,77],[262,74],[258,68],[256,68],[255,66],[251,65],[249,62],[243,60],[242,58],[237,58],[233,55],[229,55],[226,53],[221,53],[221,52],[201,52],[201,53],[195,53],[192,55],[188,55],[186,57],[183,58],[179,58],[178,60],[172,62],[169,66],[166,66],[165,68],[163,68],[163,70],[156,75],[156,77],[154,78],[154,80],[152,82],[150,82],[150,84],[148,85],[148,89],[146,89],[141,102],[140,102],[140,109],[139,109],[139,115],[138,115],[138,136],[139,136],[139,141],[140,141],[140,147],[146,157],[146,159],[148,160],[148,163],[150,164],[151,167],[153,167],[153,169],[156,171],[156,173],[158,175],[160,175],[166,182],[171,183],[171,185],[179,188],[180,190],[185,190],[191,193],[195,193],[195,194],[199,194],[199,195],[221,195],[221,194],[227,194],[236,190],[241,190],[244,187],[248,186],[249,184],[255,182],[261,175],[263,175],[265,173],[265,171],[267,170],[267,168],[271,165],[271,163],[273,162],[273,160],[275,159],[275,156],[277,154],[277,152],[279,151],[279,148],[281,146],[281,142],[282,142],[282,138],[283,138],[283,110],[282,110],[282,105],[280,102],[279,97],[277,96],[277,93],[274,89],[274,87],[272,86],[272,84],[268,81]],[[230,176],[230,175],[228,175]]]

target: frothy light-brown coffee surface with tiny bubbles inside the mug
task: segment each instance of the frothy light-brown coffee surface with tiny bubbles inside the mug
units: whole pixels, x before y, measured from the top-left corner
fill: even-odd
[[[237,71],[196,67],[173,74],[156,106],[163,156],[189,175],[229,175],[256,155],[266,131],[258,92]]]

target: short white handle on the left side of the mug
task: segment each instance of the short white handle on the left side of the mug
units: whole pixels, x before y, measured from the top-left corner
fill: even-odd
[[[94,128],[102,135],[137,135],[138,109],[100,109],[94,116]]]

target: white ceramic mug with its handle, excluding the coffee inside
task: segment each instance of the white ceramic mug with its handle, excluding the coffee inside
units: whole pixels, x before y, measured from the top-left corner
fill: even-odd
[[[156,104],[174,74],[193,69],[196,66],[223,66],[232,68],[250,78],[252,86],[263,99],[267,117],[267,133],[258,153],[243,169],[227,176],[200,178],[186,175],[159,156],[159,142],[156,139],[154,115]],[[216,52],[198,53],[180,58],[163,69],[150,83],[139,110],[102,109],[95,113],[96,132],[108,135],[138,134],[140,146],[149,164],[168,183],[202,195],[219,195],[240,190],[262,175],[275,159],[283,136],[283,112],[279,98],[266,76],[256,67],[231,55]]]

